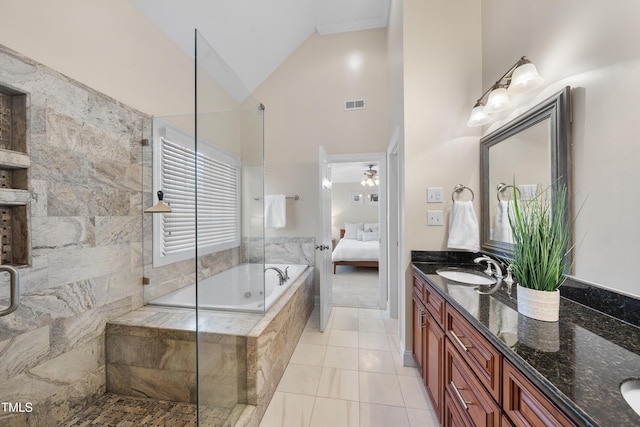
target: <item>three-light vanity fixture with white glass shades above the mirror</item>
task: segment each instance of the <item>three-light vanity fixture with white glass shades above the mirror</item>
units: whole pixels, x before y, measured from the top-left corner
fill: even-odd
[[[476,101],[467,126],[476,127],[489,123],[489,114],[506,111],[513,107],[511,95],[529,92],[544,83],[536,66],[525,56],[520,58],[497,82],[487,89]],[[487,97],[488,95],[488,97]],[[487,97],[486,104],[483,101]]]

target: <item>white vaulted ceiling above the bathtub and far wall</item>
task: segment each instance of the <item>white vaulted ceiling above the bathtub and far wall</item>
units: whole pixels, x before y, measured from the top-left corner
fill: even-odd
[[[314,31],[387,25],[389,0],[132,0],[193,56],[194,29],[253,90]]]

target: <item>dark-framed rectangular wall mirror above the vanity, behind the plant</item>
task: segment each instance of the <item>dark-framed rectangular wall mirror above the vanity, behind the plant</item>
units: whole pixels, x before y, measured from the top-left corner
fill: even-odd
[[[530,200],[552,183],[566,185],[571,195],[570,103],[571,89],[565,87],[480,139],[482,251],[507,258],[513,255],[507,211],[514,183],[519,201]]]

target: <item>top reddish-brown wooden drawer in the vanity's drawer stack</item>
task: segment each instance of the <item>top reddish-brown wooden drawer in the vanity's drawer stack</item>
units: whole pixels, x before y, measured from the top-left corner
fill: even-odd
[[[501,401],[502,354],[458,311],[447,304],[445,333],[496,402]]]

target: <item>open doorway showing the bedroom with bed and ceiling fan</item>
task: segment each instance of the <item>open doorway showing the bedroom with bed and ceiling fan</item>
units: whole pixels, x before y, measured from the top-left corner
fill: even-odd
[[[386,309],[386,227],[380,224],[386,219],[380,205],[385,159],[363,154],[343,160],[331,163],[332,302]]]

